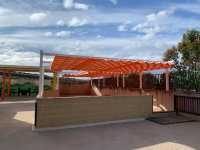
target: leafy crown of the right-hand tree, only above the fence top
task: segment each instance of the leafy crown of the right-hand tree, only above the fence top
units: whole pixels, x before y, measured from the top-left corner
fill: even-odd
[[[172,46],[163,55],[164,61],[174,61],[174,68],[178,71],[200,70],[200,31],[187,30],[177,47]]]

